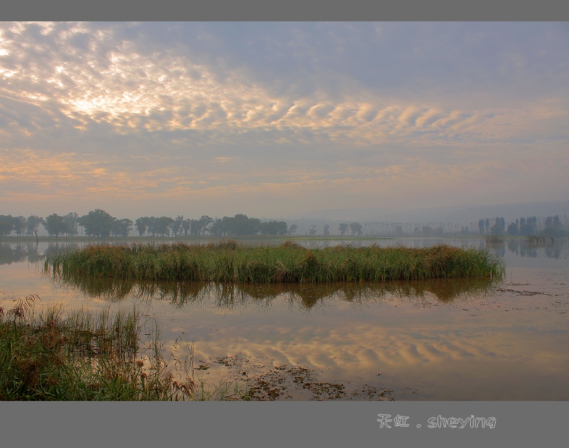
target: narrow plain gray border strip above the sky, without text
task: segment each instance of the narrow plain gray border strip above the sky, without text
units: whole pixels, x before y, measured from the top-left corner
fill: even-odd
[[[2,5],[1,20],[38,21],[563,21],[562,1],[479,0],[23,0]]]

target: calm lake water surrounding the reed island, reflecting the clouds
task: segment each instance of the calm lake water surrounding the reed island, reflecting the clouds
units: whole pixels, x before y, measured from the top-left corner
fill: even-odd
[[[41,274],[41,256],[65,245],[0,243],[0,306],[29,293],[43,306],[135,305],[159,321],[166,349],[183,358],[193,344],[194,375],[213,384],[238,378],[264,399],[569,400],[567,239],[351,244],[374,242],[489,247],[506,259],[506,278],[490,285],[73,286]]]

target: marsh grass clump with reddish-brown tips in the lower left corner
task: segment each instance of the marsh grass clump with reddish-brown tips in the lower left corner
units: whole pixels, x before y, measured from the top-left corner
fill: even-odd
[[[163,356],[159,328],[136,310],[36,311],[38,296],[0,307],[0,400],[234,400],[235,384],[207,385]],[[143,338],[147,336],[147,338]],[[180,370],[185,369],[185,375]],[[212,392],[213,390],[213,392]]]

